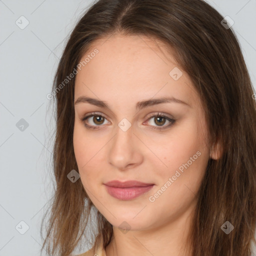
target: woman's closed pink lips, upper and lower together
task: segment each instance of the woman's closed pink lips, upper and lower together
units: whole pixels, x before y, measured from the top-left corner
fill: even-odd
[[[106,187],[107,192],[120,200],[131,200],[138,197],[141,194],[149,191],[154,184],[144,183],[137,180],[111,180],[109,182],[103,183]]]

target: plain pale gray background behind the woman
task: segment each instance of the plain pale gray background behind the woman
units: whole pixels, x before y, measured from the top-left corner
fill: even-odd
[[[0,256],[39,255],[53,178],[54,119],[46,94],[66,37],[91,2],[0,0]],[[234,20],[255,86],[256,0],[208,2]],[[85,250],[86,244],[76,252]]]

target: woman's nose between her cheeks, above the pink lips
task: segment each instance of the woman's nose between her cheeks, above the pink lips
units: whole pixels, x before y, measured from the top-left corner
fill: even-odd
[[[141,141],[131,127],[124,131],[118,126],[116,134],[110,141],[108,163],[119,170],[134,168],[143,161]]]

